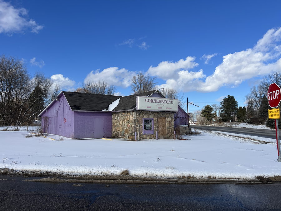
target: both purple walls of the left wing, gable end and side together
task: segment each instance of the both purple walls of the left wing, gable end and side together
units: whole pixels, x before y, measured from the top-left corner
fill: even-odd
[[[41,115],[42,131],[68,138],[109,138],[112,135],[110,112],[72,111],[63,93]]]

